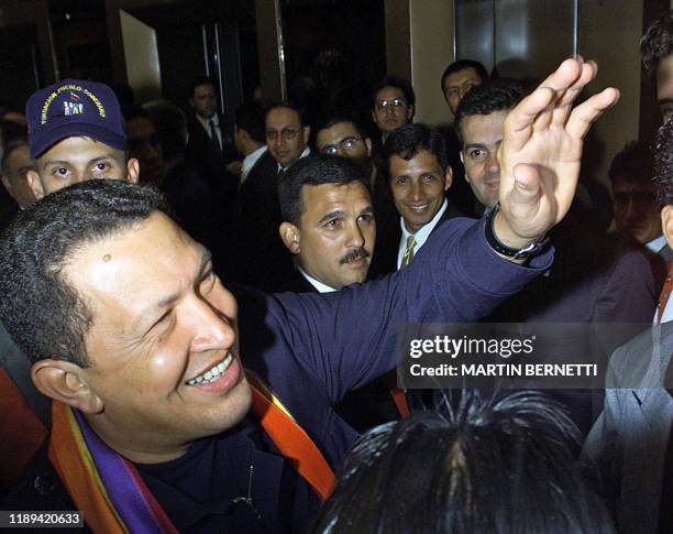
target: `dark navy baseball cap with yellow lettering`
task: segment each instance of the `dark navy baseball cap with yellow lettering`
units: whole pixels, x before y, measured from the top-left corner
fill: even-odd
[[[104,84],[64,79],[34,92],[25,105],[25,116],[33,159],[58,141],[78,135],[126,150],[119,101]]]

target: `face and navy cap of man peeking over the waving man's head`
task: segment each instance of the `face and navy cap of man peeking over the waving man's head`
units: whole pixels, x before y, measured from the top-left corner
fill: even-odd
[[[126,157],[124,119],[108,86],[65,79],[33,94],[25,115],[35,198],[86,179],[137,182],[139,163]]]

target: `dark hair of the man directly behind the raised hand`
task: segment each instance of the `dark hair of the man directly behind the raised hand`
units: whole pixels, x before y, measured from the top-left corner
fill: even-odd
[[[523,83],[514,78],[489,79],[476,87],[473,87],[463,97],[455,110],[453,128],[459,140],[459,145],[463,146],[463,132],[461,123],[465,117],[473,115],[490,115],[494,111],[504,111],[514,108],[526,96]]]

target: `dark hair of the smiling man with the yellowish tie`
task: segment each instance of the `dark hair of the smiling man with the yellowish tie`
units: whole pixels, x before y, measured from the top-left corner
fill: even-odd
[[[399,127],[388,135],[380,152],[382,170],[385,176],[390,174],[390,159],[396,155],[402,160],[412,160],[421,150],[434,154],[442,173],[449,166],[449,155],[443,135],[426,124],[415,122]]]

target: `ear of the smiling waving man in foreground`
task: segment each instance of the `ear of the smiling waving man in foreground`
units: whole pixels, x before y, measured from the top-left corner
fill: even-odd
[[[102,400],[89,388],[84,370],[69,361],[40,360],[31,368],[37,391],[81,412],[102,412]]]

